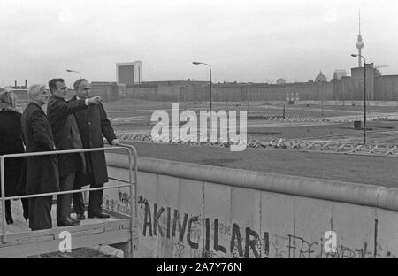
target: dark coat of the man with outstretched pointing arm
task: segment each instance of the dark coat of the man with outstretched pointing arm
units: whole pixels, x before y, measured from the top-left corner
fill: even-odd
[[[63,98],[51,96],[47,103],[47,117],[49,118],[52,135],[57,150],[83,149],[79,128],[73,113],[87,108],[84,100],[66,102]],[[69,153],[58,155],[59,176],[68,173],[86,173],[84,153]]]

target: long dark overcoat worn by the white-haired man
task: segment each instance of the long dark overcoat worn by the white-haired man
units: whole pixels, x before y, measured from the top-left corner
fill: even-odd
[[[37,103],[29,103],[22,114],[26,151],[54,150],[54,139],[46,114]],[[27,157],[27,195],[59,191],[57,155]]]

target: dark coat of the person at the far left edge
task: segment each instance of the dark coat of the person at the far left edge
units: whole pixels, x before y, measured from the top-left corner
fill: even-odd
[[[17,111],[0,111],[0,155],[25,152],[20,119],[21,114]],[[23,165],[24,157],[4,159],[5,196],[24,194],[24,191],[19,192]]]

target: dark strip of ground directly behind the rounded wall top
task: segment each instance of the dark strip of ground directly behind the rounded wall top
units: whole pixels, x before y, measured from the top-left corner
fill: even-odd
[[[140,157],[398,188],[397,157],[302,152],[294,149],[231,152],[218,147],[128,143],[136,147]]]

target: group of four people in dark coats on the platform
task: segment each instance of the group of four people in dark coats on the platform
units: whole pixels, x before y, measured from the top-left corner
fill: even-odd
[[[119,144],[103,109],[101,97],[91,96],[88,80],[74,82],[76,95],[69,101],[66,101],[65,80],[52,79],[49,88],[50,95],[44,85],[29,87],[29,103],[22,115],[15,110],[12,92],[0,90],[0,142],[4,144],[3,133],[6,133],[9,134],[7,141],[14,143],[13,147],[0,149],[0,155],[24,152],[22,140],[26,152],[103,148],[103,136],[110,144]],[[3,100],[9,97],[13,101]],[[47,114],[42,109],[45,103]],[[8,107],[2,109],[1,104]],[[3,122],[7,124],[4,125]],[[14,164],[10,163],[11,159],[6,159],[4,169],[6,196],[68,191],[87,185],[90,188],[101,188],[108,181],[103,151],[13,158],[17,159]],[[7,171],[8,174],[13,173],[14,178],[8,176]],[[102,201],[103,190],[89,193],[88,218],[109,218],[102,211]],[[76,218],[71,216],[72,203]],[[52,227],[52,196],[29,198],[22,205],[24,217],[29,220],[32,230]],[[12,223],[11,207],[7,209],[8,206],[10,202],[6,203],[6,220],[7,223]],[[84,212],[82,193],[57,196],[57,226],[79,225],[80,220],[86,219]]]

